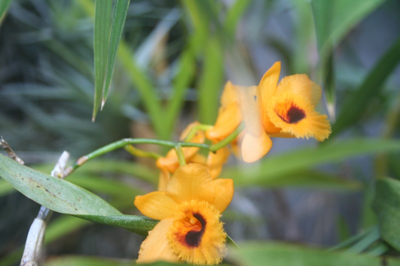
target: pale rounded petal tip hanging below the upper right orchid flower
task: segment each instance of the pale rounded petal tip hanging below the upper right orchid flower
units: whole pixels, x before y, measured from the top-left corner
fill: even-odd
[[[264,156],[272,147],[272,141],[261,131],[260,136],[245,133],[241,143],[241,156],[243,161],[252,163]]]

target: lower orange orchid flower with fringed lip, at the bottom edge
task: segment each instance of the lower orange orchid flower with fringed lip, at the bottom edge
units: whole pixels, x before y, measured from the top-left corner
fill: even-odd
[[[205,166],[195,163],[177,168],[165,191],[136,196],[136,208],[160,220],[141,244],[137,263],[220,263],[226,233],[219,218],[232,197],[231,179],[213,180]]]

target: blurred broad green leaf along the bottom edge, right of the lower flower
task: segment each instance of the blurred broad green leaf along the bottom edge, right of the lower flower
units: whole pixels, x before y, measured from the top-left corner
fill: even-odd
[[[346,252],[327,252],[301,246],[274,243],[246,243],[229,257],[237,265],[263,266],[398,266],[399,260]]]

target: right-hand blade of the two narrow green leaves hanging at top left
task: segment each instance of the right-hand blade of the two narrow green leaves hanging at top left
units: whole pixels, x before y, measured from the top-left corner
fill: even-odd
[[[123,25],[125,24],[126,13],[128,11],[129,0],[116,0],[114,13],[112,15],[111,33],[108,46],[107,73],[103,85],[103,100],[101,108],[107,98],[108,89],[111,83],[112,73],[114,72],[114,64],[116,52],[118,50],[119,41],[122,35]]]

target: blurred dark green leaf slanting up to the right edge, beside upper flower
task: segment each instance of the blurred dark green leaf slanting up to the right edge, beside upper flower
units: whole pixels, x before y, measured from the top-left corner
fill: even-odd
[[[383,82],[400,61],[400,38],[380,57],[361,85],[343,102],[330,137],[355,124],[365,113],[369,103],[378,95]]]

